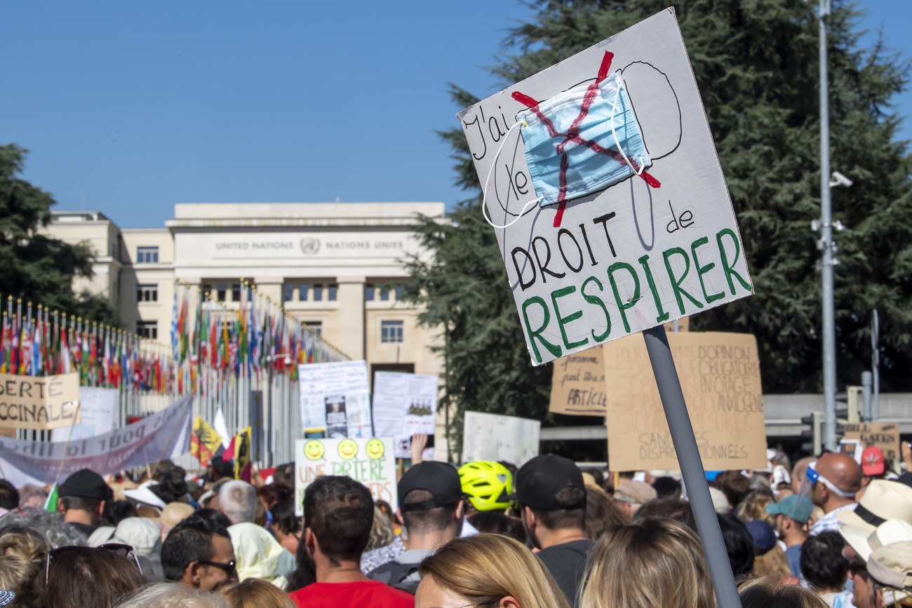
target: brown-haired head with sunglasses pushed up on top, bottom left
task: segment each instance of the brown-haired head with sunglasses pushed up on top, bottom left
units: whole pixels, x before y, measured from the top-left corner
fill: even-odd
[[[101,547],[51,551],[47,565],[47,607],[111,608],[146,584],[133,556]]]

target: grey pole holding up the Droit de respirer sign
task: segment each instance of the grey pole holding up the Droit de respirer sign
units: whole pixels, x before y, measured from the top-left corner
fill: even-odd
[[[652,372],[656,376],[658,396],[661,397],[662,407],[665,408],[668,429],[671,431],[671,441],[678,453],[681,477],[684,478],[684,486],[687,488],[694,520],[697,520],[700,544],[703,545],[703,553],[706,555],[706,562],[710,568],[710,578],[716,592],[716,599],[721,608],[741,608],[738,588],[735,586],[735,579],[731,574],[729,554],[725,550],[719,519],[712,506],[710,486],[706,482],[706,473],[703,470],[703,461],[700,459],[700,450],[697,448],[697,439],[690,426],[687,405],[684,403],[684,393],[681,391],[678,371],[675,369],[675,362],[671,357],[665,327],[658,325],[658,327],[647,329],[643,332],[643,338],[646,340]]]

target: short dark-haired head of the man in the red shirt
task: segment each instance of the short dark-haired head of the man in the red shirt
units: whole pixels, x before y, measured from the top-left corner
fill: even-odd
[[[374,500],[354,479],[339,475],[316,478],[304,493],[307,552],[320,567],[358,562],[370,540]]]

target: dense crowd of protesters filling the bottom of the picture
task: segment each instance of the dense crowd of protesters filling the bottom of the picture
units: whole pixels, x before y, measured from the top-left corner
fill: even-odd
[[[868,448],[707,474],[744,608],[912,605],[912,473]],[[294,466],[0,480],[0,606],[715,608],[677,471],[424,461],[396,509]],[[303,516],[295,512],[303,511]]]

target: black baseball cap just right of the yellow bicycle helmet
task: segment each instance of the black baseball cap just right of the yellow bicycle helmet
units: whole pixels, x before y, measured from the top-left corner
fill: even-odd
[[[509,497],[526,507],[544,510],[582,509],[586,506],[586,486],[583,471],[571,459],[546,454],[526,462],[516,472],[516,491]],[[565,488],[583,490],[583,499],[578,504],[564,504],[557,501],[557,493]]]

